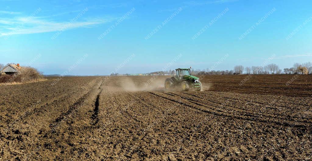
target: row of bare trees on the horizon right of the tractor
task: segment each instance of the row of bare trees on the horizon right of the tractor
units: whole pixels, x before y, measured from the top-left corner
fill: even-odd
[[[233,70],[199,70],[193,71],[193,74],[312,74],[312,63],[307,62],[304,64],[295,63],[291,68],[279,68],[277,64],[268,64],[266,66],[251,66],[244,67],[236,65]]]

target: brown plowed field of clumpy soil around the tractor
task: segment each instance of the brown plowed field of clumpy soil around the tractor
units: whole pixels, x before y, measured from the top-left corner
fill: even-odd
[[[0,86],[0,161],[312,160],[312,75],[167,77]]]

